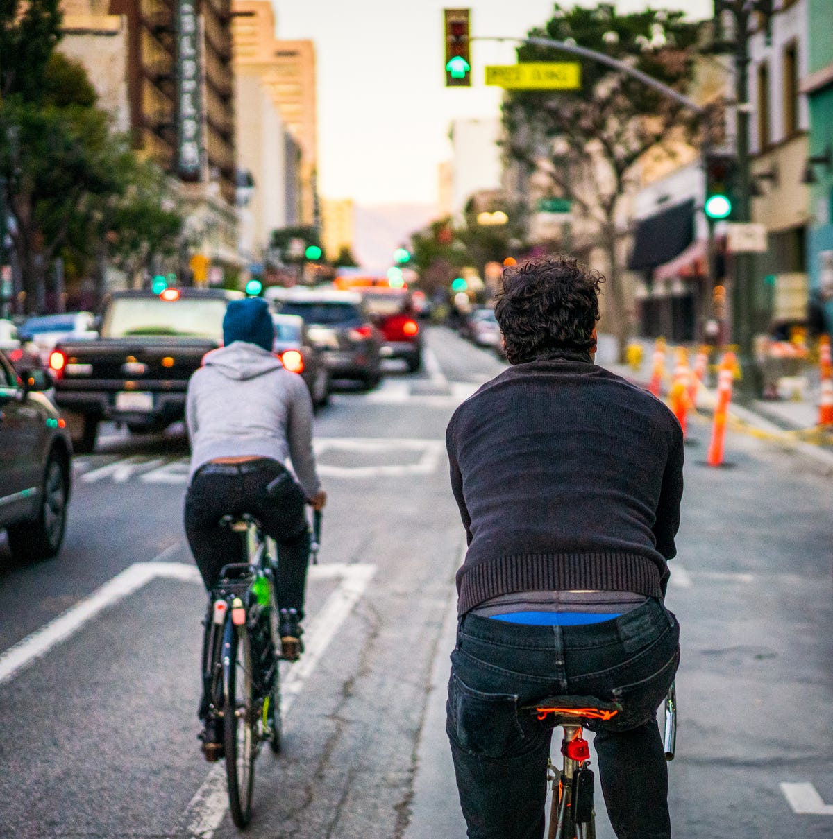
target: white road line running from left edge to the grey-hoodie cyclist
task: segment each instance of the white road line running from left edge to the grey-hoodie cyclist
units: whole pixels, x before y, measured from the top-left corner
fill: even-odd
[[[170,545],[150,562],[136,562],[97,588],[89,597],[76,603],[63,614],[46,623],[34,633],[0,655],[0,685],[13,678],[20,670],[47,654],[55,645],[76,633],[85,623],[114,603],[122,601],[155,577],[199,581],[200,574],[194,565],[165,562],[178,545]]]

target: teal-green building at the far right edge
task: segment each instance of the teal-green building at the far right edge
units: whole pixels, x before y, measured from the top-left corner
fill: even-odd
[[[812,305],[833,332],[833,3],[809,0],[807,16],[808,72],[800,85],[809,105],[807,268]]]

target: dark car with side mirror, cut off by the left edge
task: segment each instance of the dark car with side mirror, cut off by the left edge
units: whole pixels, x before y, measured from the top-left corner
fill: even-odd
[[[17,560],[55,556],[71,489],[70,435],[42,367],[18,376],[0,352],[0,528]]]

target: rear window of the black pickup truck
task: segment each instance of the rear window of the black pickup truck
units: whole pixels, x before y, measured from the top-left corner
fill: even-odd
[[[186,297],[179,300],[161,300],[159,297],[117,298],[107,307],[102,336],[182,336],[222,341],[225,314],[226,301],[217,297]]]

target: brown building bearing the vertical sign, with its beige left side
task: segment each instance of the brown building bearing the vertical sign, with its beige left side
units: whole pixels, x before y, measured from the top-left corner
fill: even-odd
[[[186,215],[183,278],[207,282],[191,274],[193,256],[221,276],[237,270],[230,0],[64,0],[62,11],[60,50],[85,66],[134,149],[171,176]]]

